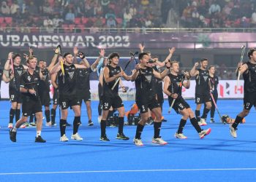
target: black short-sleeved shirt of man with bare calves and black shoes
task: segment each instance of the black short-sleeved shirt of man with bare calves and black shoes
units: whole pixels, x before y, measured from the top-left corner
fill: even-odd
[[[36,93],[32,95],[29,92],[21,92],[22,95],[26,96],[26,98],[31,98],[32,100],[39,100],[39,94],[38,94],[39,79],[40,79],[40,76],[35,71],[33,74],[30,74],[29,71],[25,71],[20,76],[20,87],[34,90],[36,91]]]

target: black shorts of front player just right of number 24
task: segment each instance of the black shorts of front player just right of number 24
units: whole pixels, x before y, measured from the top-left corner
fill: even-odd
[[[140,109],[140,113],[148,112],[148,108],[152,110],[153,108],[161,107],[156,98],[152,98],[151,100],[146,99],[138,99],[136,100],[137,106]]]

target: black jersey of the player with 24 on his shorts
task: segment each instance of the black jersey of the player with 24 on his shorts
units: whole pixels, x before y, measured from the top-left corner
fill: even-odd
[[[113,77],[117,74],[119,74],[121,72],[121,67],[120,66],[116,66],[116,68],[113,68],[112,66],[108,65],[107,68],[109,69],[109,76]],[[113,90],[111,90],[111,88],[114,86],[114,84],[116,83],[116,80],[118,78],[116,78],[115,80],[113,80],[112,82],[105,82],[104,79],[104,74],[103,74],[103,95],[109,96],[109,97],[114,97],[115,95],[118,95],[118,87],[119,87],[119,81],[116,84],[116,86],[113,88]]]

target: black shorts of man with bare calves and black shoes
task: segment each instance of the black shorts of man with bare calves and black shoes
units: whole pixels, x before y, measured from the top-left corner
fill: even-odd
[[[31,114],[42,112],[42,104],[41,101],[32,100],[32,99],[24,99],[22,103],[22,114],[23,116],[30,116]]]

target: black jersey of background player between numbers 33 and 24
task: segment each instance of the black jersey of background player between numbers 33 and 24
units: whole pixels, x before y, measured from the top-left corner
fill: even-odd
[[[90,90],[90,74],[93,72],[91,68],[78,68],[77,74],[77,89],[78,90]]]

